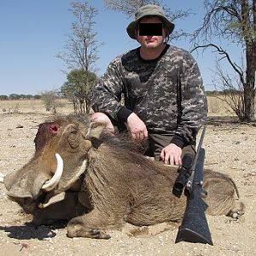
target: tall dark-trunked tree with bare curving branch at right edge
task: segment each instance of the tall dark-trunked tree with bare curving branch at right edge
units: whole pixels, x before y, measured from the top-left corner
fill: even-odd
[[[231,107],[242,121],[254,120],[255,99],[255,71],[256,71],[256,0],[205,0],[206,15],[202,26],[195,31],[195,49],[209,47],[215,49],[221,55],[219,61],[226,60],[236,74],[238,83],[232,76],[224,73],[218,63],[218,78],[224,86],[230,90],[239,90],[233,99]],[[199,38],[203,44],[198,45]],[[224,38],[232,44],[241,47],[241,54],[245,60],[245,67],[232,61],[228,50],[219,44],[213,43],[214,38]],[[216,40],[215,40],[216,41]]]

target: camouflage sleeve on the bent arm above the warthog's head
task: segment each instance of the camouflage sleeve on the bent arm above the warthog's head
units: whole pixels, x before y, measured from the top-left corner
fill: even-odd
[[[106,73],[93,90],[91,107],[95,112],[106,113],[117,120],[117,113],[122,107],[121,93],[123,80],[119,72],[119,59],[112,61]]]

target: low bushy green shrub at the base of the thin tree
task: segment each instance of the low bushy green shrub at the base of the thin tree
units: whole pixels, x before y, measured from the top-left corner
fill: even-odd
[[[90,113],[91,91],[95,84],[96,74],[84,69],[73,70],[67,75],[61,93],[73,102],[75,113]]]

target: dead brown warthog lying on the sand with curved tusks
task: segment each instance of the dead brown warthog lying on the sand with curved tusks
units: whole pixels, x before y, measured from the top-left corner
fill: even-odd
[[[25,166],[3,178],[7,195],[35,224],[68,219],[67,236],[108,239],[125,222],[142,226],[177,221],[186,197],[172,195],[177,167],[146,159],[136,144],[111,136],[104,126],[67,116],[40,125],[36,152]],[[135,147],[135,148],[134,148]],[[207,213],[241,215],[230,177],[205,171]],[[45,207],[54,195],[62,201]]]

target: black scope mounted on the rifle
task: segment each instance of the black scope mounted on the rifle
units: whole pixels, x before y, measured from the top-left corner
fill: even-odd
[[[192,156],[185,154],[183,156],[183,165],[177,170],[178,175],[173,185],[172,194],[180,197],[183,193],[183,188],[189,180],[190,167],[192,164]]]

